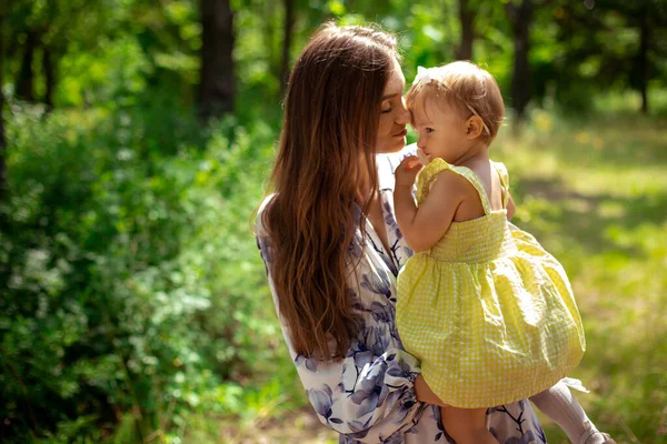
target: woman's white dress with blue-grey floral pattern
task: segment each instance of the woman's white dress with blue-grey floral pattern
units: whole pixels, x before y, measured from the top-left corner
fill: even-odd
[[[447,443],[451,442],[440,421],[440,410],[417,401],[412,381],[420,372],[417,360],[404,351],[396,329],[396,279],[412,254],[394,214],[394,171],[415,153],[377,157],[380,196],[389,251],[366,221],[367,239],[358,229],[350,254],[360,259],[350,280],[355,310],[362,319],[358,336],[345,360],[323,363],[298,355],[285,324],[283,336],[301,383],[322,424],[340,433],[340,443]],[[257,243],[267,266],[269,286],[277,304],[270,274],[270,239],[261,224],[262,203],[256,225]],[[360,220],[359,208],[354,210]],[[357,282],[359,284],[357,284]],[[278,313],[280,314],[280,313]],[[546,443],[541,426],[526,400],[489,408],[487,425],[500,443]]]

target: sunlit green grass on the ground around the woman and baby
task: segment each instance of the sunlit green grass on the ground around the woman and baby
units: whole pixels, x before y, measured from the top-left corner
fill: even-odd
[[[588,346],[570,376],[591,391],[577,394],[590,418],[619,443],[667,443],[667,122],[659,119],[535,111],[522,137],[506,128],[492,148],[510,172],[515,223],[573,281]],[[243,384],[242,415],[196,416],[183,442],[336,442],[308,407],[287,350],[282,356],[276,375]],[[540,417],[551,443],[568,442]]]

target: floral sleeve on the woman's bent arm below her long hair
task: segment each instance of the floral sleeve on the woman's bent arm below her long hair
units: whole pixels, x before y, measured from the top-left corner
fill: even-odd
[[[261,214],[260,210],[256,236],[276,303],[270,240],[261,224]],[[278,304],[276,307],[278,310]],[[365,312],[365,315],[388,314],[381,311],[378,307],[378,312]],[[425,408],[425,404],[417,401],[412,386],[419,367],[417,360],[405,351],[382,345],[390,342],[392,322],[362,327],[359,339],[339,362],[322,362],[297,354],[285,323],[281,321],[280,324],[308,400],[322,424],[362,443],[384,442],[416,424]]]

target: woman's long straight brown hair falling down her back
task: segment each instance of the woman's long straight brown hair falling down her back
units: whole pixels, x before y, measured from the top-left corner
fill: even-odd
[[[262,222],[280,314],[308,357],[340,360],[358,333],[348,290],[352,208],[361,181],[377,192],[381,98],[397,57],[396,39],[378,29],[327,23],[289,78],[276,194]],[[361,204],[366,213],[369,200]]]

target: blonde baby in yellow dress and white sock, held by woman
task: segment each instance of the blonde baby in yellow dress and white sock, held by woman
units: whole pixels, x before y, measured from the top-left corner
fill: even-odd
[[[505,114],[498,84],[469,62],[419,68],[406,99],[424,160],[396,170],[397,221],[416,251],[398,279],[397,325],[449,405],[447,432],[497,443],[487,408],[537,395],[577,442],[613,443],[557,384],[581,360],[584,327],[560,263],[508,222],[509,176],[489,159]]]

